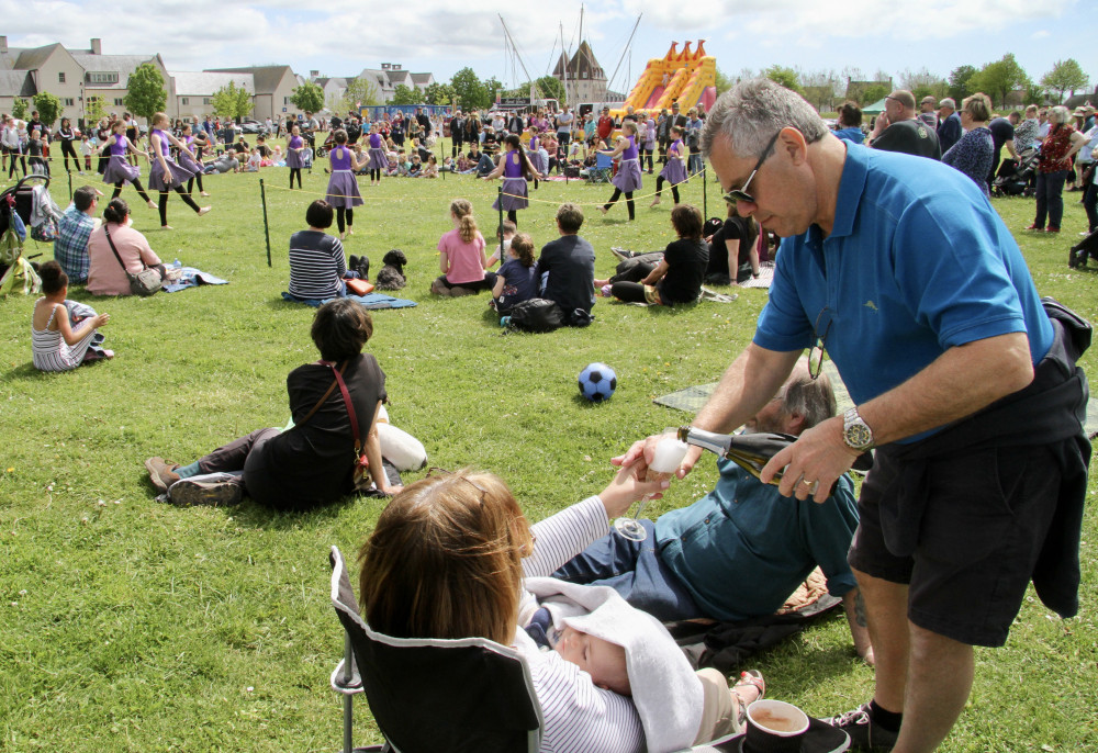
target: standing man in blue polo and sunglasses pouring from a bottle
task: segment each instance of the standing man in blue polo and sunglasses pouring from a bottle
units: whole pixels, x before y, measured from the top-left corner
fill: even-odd
[[[854,750],[932,751],[965,707],[973,647],[1004,644],[1031,580],[1052,610],[1078,611],[1090,453],[1076,413],[1080,325],[1063,307],[1046,313],[971,179],[843,142],[772,81],[722,94],[702,149],[726,200],[784,240],[753,339],[694,426],[728,432],[805,349],[831,358],[855,407],[803,432],[762,480],[784,469],[782,494],[822,503],[876,448],[848,558],[875,692],[830,722]],[[618,462],[647,468],[657,441]]]

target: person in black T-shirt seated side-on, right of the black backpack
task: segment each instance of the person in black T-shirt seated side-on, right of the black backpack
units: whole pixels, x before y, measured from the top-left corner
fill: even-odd
[[[640,282],[615,282],[610,295],[626,303],[674,306],[693,303],[702,294],[702,278],[709,261],[709,247],[702,239],[702,212],[690,204],[671,210],[671,226],[679,239],[668,244],[663,258]],[[595,280],[596,288],[608,280]]]

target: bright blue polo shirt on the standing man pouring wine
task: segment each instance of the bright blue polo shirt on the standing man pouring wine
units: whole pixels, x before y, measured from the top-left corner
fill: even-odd
[[[813,225],[782,243],[755,345],[802,350],[815,328],[859,404],[974,340],[1027,333],[1040,361],[1052,324],[976,184],[948,165],[845,146],[831,235]]]

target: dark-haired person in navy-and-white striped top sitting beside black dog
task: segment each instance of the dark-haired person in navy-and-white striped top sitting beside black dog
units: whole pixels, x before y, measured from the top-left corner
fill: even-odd
[[[309,229],[290,236],[290,295],[295,299],[324,301],[347,294],[343,243],[325,233],[334,214],[328,202],[317,199],[305,210]]]

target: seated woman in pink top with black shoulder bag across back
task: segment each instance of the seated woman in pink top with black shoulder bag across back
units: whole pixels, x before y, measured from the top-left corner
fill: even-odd
[[[111,248],[111,241],[117,256]],[[159,271],[161,280],[168,277],[160,257],[153,251],[145,236],[130,227],[126,200],[121,196],[112,199],[103,210],[103,224],[88,236],[88,292],[92,295],[130,295],[126,272],[137,274],[145,267]]]

